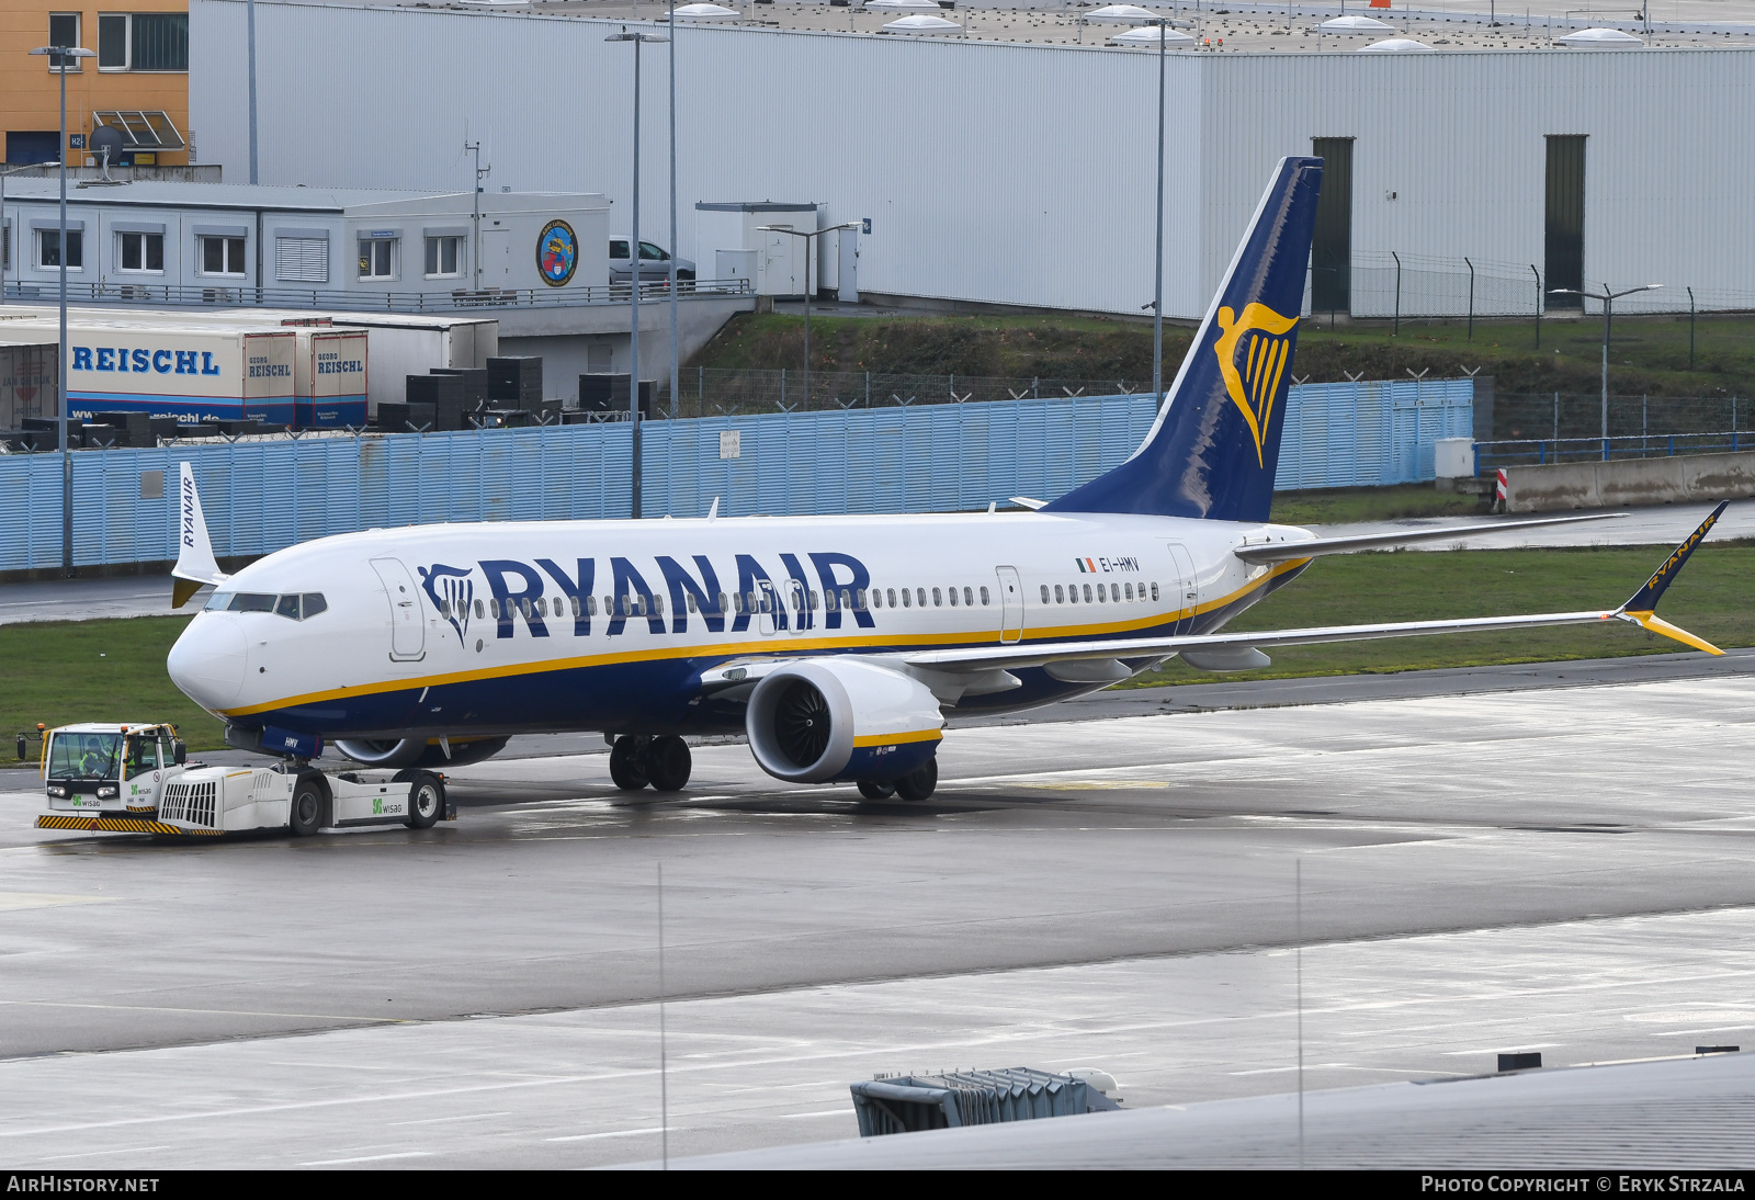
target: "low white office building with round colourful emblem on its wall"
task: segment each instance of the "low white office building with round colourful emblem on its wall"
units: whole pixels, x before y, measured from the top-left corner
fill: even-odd
[[[16,247],[4,261],[7,296],[60,288],[60,221],[54,179],[11,182],[0,205]],[[405,305],[490,289],[560,298],[595,288],[607,298],[609,284],[609,202],[591,193],[86,181],[68,188],[67,232],[67,281],[86,298],[297,304],[311,293],[323,305],[397,295]],[[549,277],[544,235],[570,251]]]

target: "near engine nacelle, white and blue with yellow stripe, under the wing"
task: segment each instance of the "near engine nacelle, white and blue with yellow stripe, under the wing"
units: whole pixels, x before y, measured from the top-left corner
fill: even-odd
[[[918,679],[858,658],[825,658],[762,679],[744,728],[756,763],[776,779],[888,782],[939,751],[944,714]]]

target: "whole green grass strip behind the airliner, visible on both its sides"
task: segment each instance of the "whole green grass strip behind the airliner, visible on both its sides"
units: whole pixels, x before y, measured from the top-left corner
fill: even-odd
[[[1283,514],[1276,512],[1281,519]],[[1351,519],[1351,512],[1346,514]],[[1497,616],[1615,607],[1669,547],[1337,554],[1255,605],[1228,628],[1267,630],[1367,621]],[[1662,614],[1723,647],[1755,646],[1755,544],[1704,546],[1664,598]],[[0,626],[11,665],[0,732],[74,721],[172,721],[191,749],[218,749],[221,725],[165,675],[165,654],[190,618]],[[1681,649],[1625,623],[1511,630],[1274,651],[1267,670],[1213,675],[1179,661],[1130,686],[1288,679],[1357,672],[1662,654]]]

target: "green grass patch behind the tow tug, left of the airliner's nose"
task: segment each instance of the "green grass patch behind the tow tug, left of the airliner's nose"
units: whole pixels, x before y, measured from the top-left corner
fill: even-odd
[[[172,686],[165,654],[186,616],[0,625],[0,733],[75,721],[170,721],[190,749],[219,749],[225,726]],[[0,758],[5,761],[5,758]]]

